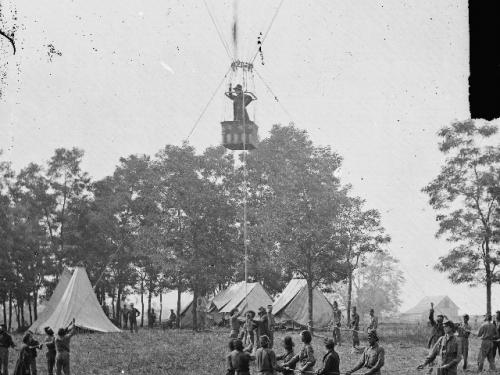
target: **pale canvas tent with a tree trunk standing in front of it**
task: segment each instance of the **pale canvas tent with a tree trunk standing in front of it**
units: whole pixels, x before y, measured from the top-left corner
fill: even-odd
[[[276,322],[307,326],[309,321],[309,296],[305,279],[292,279],[273,305]],[[313,289],[313,324],[315,328],[327,327],[333,319],[333,307],[325,295]]]

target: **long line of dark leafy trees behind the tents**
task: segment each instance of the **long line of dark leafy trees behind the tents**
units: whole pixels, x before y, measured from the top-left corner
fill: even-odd
[[[0,163],[0,301],[9,327],[37,319],[38,301],[65,266],[86,268],[113,317],[131,292],[151,308],[165,290],[196,300],[243,280],[245,201],[249,281],[271,294],[302,277],[312,301],[316,286],[344,281],[350,311],[356,270],[390,242],[380,213],[341,183],[342,157],[292,124],[273,126],[245,164],[223,147],[197,154],[184,143],[123,157],[94,180],[83,157],[60,148],[18,172]]]

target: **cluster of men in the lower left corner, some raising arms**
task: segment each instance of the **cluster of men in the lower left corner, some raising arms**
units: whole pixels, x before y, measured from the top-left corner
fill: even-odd
[[[0,325],[1,375],[8,375],[10,348],[19,351],[19,357],[14,368],[14,375],[36,375],[37,351],[41,350],[43,345],[47,348],[45,353],[47,359],[47,373],[53,375],[55,369],[57,375],[70,374],[69,347],[71,337],[76,332],[75,320],[73,319],[68,327],[60,328],[57,331],[57,335],[54,334],[54,331],[50,327],[45,327],[44,331],[46,337],[43,343],[35,338],[33,332],[27,331],[23,336],[21,347],[17,349],[16,344],[12,340],[12,336],[7,332],[6,326],[4,324]]]

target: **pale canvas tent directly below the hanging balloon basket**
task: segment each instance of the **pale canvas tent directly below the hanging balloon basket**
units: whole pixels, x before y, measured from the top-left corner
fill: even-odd
[[[257,313],[259,307],[266,307],[272,303],[273,300],[260,283],[247,283],[245,287],[245,282],[241,281],[218,293],[211,301],[210,311],[215,314],[214,320],[217,320],[217,313],[229,314],[235,308],[241,315],[249,310]]]

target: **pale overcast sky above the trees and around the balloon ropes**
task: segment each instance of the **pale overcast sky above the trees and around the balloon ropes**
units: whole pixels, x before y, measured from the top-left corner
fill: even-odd
[[[5,1],[4,13],[17,8],[19,30],[15,56],[0,42],[3,158],[18,170],[77,146],[83,167],[101,178],[122,156],[180,145],[234,54],[232,3]],[[239,1],[239,58],[254,56],[280,3]],[[421,193],[442,162],[436,132],[470,116],[467,1],[286,0],[255,65],[250,113],[261,137],[274,123],[307,129],[344,157],[343,182],[381,211],[407,279],[402,310],[448,294],[463,312],[482,313],[483,289],[452,286],[432,269],[448,244],[434,237],[435,213]],[[189,139],[200,151],[220,141],[226,83]]]

